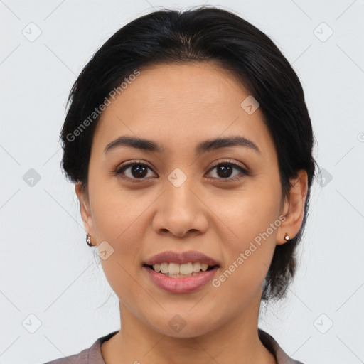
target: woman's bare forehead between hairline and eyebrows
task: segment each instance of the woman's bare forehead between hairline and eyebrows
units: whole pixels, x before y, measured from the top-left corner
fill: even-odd
[[[264,115],[259,108],[252,114],[242,108],[250,92],[230,71],[214,63],[186,63],[151,65],[139,72],[102,112],[97,147],[127,134],[161,141],[167,151],[171,146],[192,149],[202,139],[237,134],[267,152],[274,149]]]

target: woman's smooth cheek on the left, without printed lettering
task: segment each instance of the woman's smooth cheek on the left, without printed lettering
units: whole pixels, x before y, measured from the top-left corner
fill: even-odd
[[[117,294],[135,289],[132,277],[141,264],[146,228],[141,226],[143,213],[149,200],[152,203],[154,199],[137,198],[126,191],[102,188],[96,184],[91,196],[92,222],[97,244],[100,244],[97,249],[107,280]],[[102,250],[107,251],[107,259],[102,259]]]

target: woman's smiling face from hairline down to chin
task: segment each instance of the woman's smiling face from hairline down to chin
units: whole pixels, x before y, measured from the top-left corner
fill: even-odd
[[[79,185],[76,192],[122,321],[189,337],[257,318],[274,247],[284,243],[285,232],[294,237],[300,223],[284,223],[289,205],[276,150],[248,96],[212,63],[154,65],[141,69],[102,113],[92,141],[89,198]],[[150,142],[105,151],[119,137]],[[241,139],[218,142],[225,138]],[[218,267],[178,278],[144,266],[167,251],[200,252]],[[188,262],[202,260],[181,260],[183,272],[191,269]]]

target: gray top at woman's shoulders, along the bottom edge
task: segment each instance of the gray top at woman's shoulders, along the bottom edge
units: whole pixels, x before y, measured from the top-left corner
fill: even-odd
[[[90,348],[84,349],[78,354],[55,359],[44,364],[105,364],[101,355],[100,346],[104,341],[109,340],[109,338],[112,338],[112,336],[118,332],[119,330],[98,338],[95,343],[90,346]],[[277,360],[277,364],[304,364],[300,361],[293,360],[284,353],[277,341],[275,341],[269,333],[258,328],[258,336],[263,345],[274,355]]]

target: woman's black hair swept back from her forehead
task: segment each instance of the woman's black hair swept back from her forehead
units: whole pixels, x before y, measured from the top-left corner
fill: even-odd
[[[259,102],[277,149],[282,196],[290,191],[289,178],[296,177],[300,169],[307,172],[301,229],[289,242],[276,245],[264,281],[262,300],[282,299],[296,271],[294,253],[306,226],[316,166],[314,134],[299,78],[271,39],[251,23],[230,11],[200,6],[154,11],[119,29],[93,55],[70,91],[60,134],[63,169],[87,193],[92,137],[100,116],[75,137],[77,127],[135,70],[192,61],[214,62],[232,71]]]

